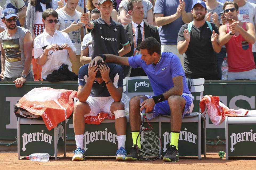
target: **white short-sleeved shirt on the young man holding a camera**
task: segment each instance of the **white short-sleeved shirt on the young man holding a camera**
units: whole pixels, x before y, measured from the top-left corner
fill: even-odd
[[[37,36],[34,40],[34,54],[35,58],[40,57],[45,50],[43,50],[43,46],[51,45],[51,44],[58,44],[61,46],[62,44],[67,43],[70,45],[71,49],[75,52],[76,49],[72,43],[72,41],[69,38],[69,35],[65,32],[58,31],[57,29],[54,32],[53,36],[50,36],[46,31],[41,33],[39,36]],[[58,50],[53,52],[53,50],[50,50],[47,56],[47,60],[45,64],[42,66],[42,78],[46,79],[48,74],[51,74],[53,70],[58,70],[59,67],[62,64],[69,65],[68,69],[69,71],[72,71],[71,69],[71,62],[69,58],[69,54],[67,50]]]

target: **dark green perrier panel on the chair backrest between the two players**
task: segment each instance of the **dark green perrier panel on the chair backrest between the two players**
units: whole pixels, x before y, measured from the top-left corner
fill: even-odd
[[[128,92],[153,92],[149,79],[129,80]]]

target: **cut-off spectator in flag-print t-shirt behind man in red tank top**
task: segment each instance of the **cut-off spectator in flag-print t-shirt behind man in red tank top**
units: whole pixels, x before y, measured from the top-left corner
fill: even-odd
[[[256,26],[256,4],[245,0],[234,0],[239,7],[238,20],[241,22],[250,22]],[[256,62],[256,42],[252,46],[254,62]]]

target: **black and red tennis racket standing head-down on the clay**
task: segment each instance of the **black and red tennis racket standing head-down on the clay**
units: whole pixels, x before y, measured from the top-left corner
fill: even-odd
[[[140,103],[143,102],[143,97],[139,97]],[[138,154],[142,157],[143,160],[153,161],[159,158],[162,153],[162,143],[161,138],[149,124],[146,118],[145,108],[142,110],[143,121],[141,130],[136,139],[136,146]],[[150,128],[143,129],[143,122],[147,121]]]

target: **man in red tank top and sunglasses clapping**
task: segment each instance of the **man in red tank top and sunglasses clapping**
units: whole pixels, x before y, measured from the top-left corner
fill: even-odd
[[[252,45],[255,43],[254,24],[241,22],[235,2],[225,2],[224,15],[228,23],[219,28],[219,45],[226,46],[229,65],[228,79],[256,80]]]

